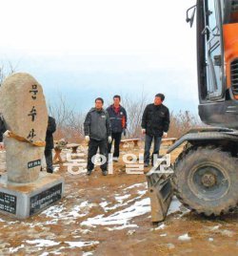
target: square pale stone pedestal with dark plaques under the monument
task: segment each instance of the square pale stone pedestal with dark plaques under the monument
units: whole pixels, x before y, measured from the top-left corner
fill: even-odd
[[[30,183],[0,178],[0,213],[17,219],[26,219],[59,201],[64,194],[64,178],[40,172],[39,179]]]

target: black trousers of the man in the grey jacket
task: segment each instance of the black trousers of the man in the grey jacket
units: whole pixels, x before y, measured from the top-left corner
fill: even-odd
[[[107,161],[102,164],[101,170],[106,171],[108,167],[108,139],[103,140],[96,140],[90,139],[89,140],[89,151],[88,151],[88,166],[87,169],[91,171],[94,168],[94,163],[92,162],[91,158],[97,154],[97,150],[99,148],[100,155],[103,155],[107,158]]]

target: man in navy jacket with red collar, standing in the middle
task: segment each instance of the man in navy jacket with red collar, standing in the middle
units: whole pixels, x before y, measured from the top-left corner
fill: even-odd
[[[126,134],[127,128],[127,112],[124,107],[120,105],[121,96],[113,96],[113,104],[107,109],[111,124],[111,138],[109,143],[109,153],[111,150],[112,142],[114,141],[113,160],[118,161],[119,158],[119,145],[122,138],[122,133]]]

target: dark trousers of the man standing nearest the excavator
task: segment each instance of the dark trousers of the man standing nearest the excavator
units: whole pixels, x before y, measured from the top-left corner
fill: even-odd
[[[145,163],[149,163],[149,151],[150,151],[152,140],[153,140],[153,154],[156,154],[159,157],[161,139],[162,139],[161,137],[155,137],[155,136],[152,137],[152,136],[146,135],[145,153],[144,153]],[[151,158],[152,164],[153,164],[153,154]]]

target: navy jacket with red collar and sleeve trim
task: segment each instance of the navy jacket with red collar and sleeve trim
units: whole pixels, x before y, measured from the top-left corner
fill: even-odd
[[[117,113],[115,113],[113,105],[110,105],[107,108],[107,111],[109,113],[109,120],[110,120],[110,125],[111,125],[111,132],[112,133],[122,133],[124,129],[127,128],[127,112],[124,107],[120,105],[120,110]],[[123,127],[123,118],[125,121],[125,125]]]

